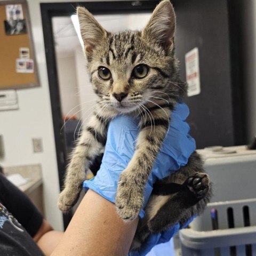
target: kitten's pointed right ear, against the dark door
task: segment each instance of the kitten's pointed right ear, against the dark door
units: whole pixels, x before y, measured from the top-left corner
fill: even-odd
[[[175,20],[175,13],[170,1],[162,1],[156,6],[149,22],[142,30],[142,37],[161,44],[165,50],[171,50],[175,33]]]

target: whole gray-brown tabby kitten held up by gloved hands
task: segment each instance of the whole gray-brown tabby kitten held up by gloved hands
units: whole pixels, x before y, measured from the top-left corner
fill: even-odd
[[[135,153],[119,178],[115,199],[121,218],[132,221],[142,208],[145,185],[169,129],[172,110],[187,89],[180,81],[174,57],[174,10],[169,0],[164,0],[142,31],[119,33],[103,29],[83,7],[77,8],[77,14],[87,69],[99,100],[73,151],[59,207],[68,211],[75,204],[85,171],[105,146],[111,119],[132,115],[140,119],[140,131]],[[209,179],[202,172],[201,159],[194,153],[186,166],[159,182],[179,183],[180,191],[167,196],[158,191],[151,196],[134,247],[151,232],[184,223],[204,209],[210,192]]]

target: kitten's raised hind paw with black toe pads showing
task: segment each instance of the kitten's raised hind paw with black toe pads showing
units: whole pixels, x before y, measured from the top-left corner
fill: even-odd
[[[186,186],[196,198],[203,198],[209,191],[209,176],[202,172],[191,175],[186,180]]]

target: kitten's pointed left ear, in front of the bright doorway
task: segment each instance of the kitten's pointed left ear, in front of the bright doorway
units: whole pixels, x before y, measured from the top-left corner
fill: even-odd
[[[107,32],[84,7],[77,7],[77,16],[81,36],[84,41],[84,51],[86,54],[90,54],[95,45],[102,42],[102,39],[107,35]]]

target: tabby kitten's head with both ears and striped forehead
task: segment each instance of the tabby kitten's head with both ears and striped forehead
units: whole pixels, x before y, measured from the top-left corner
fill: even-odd
[[[159,98],[182,97],[169,0],[157,5],[142,31],[109,33],[83,7],[77,14],[93,89],[109,107],[125,113]]]

